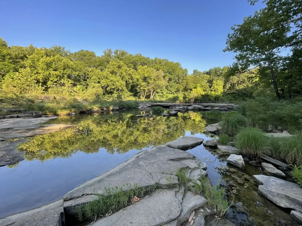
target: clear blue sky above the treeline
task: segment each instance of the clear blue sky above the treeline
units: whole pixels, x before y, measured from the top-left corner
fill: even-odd
[[[102,55],[124,49],[180,62],[189,73],[223,67],[227,34],[262,8],[247,0],[1,1],[0,37],[9,46],[64,46]]]

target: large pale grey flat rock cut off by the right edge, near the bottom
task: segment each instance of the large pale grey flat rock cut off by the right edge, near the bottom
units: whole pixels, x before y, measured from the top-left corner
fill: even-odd
[[[302,211],[302,188],[298,184],[277,177],[253,175],[258,192],[276,205]]]

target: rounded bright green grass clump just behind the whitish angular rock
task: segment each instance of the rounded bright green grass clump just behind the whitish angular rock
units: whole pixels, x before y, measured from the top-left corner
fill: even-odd
[[[262,130],[254,127],[247,127],[240,130],[236,135],[236,147],[245,155],[261,156],[266,154],[265,145],[267,138]]]

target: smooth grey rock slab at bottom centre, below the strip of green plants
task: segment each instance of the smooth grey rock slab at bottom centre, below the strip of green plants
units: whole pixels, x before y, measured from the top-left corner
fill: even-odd
[[[108,217],[101,218],[93,225],[162,225],[176,219],[181,214],[181,211],[182,205],[175,197],[175,190],[159,189],[151,196],[146,196],[133,205],[127,206]]]

